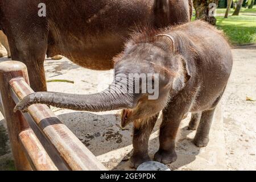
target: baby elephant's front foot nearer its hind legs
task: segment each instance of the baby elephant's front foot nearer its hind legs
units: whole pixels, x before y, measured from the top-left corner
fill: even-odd
[[[156,162],[171,164],[177,160],[177,154],[175,150],[159,150],[154,159]]]

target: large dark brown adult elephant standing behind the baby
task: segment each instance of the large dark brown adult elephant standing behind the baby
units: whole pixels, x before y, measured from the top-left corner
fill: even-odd
[[[46,5],[46,16],[38,14],[40,3]],[[46,54],[108,70],[130,32],[186,23],[191,16],[192,0],[0,0],[0,27],[12,59],[27,65],[35,91],[47,90]]]

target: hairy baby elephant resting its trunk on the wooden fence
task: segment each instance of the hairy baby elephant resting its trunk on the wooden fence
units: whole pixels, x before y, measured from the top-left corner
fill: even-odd
[[[188,112],[192,113],[189,129],[197,129],[193,142],[198,147],[207,146],[214,110],[233,65],[222,32],[198,20],[160,31],[145,30],[132,37],[114,59],[115,78],[108,89],[90,95],[33,93],[15,110],[27,111],[38,103],[85,111],[123,109],[122,127],[134,122],[130,163],[135,168],[150,160],[148,139],[161,110],[156,161],[168,164],[177,159],[175,138]]]

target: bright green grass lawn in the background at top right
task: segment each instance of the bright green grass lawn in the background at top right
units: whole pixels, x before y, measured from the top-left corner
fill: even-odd
[[[228,18],[224,18],[226,9],[217,9],[217,27],[225,32],[234,45],[256,43],[256,7],[242,8],[239,16],[232,16],[230,10]],[[195,17],[193,17],[195,20]]]

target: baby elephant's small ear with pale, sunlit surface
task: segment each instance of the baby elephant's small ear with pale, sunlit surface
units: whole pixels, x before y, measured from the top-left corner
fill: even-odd
[[[177,61],[177,64],[179,64],[179,67],[177,69],[177,73],[174,77],[174,80],[172,82],[172,89],[179,91],[185,87],[187,82],[191,78],[191,72],[188,68],[188,62],[186,59],[184,59],[183,56],[177,55],[175,56],[175,61]]]

